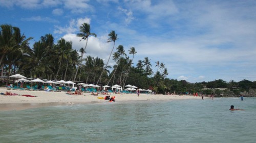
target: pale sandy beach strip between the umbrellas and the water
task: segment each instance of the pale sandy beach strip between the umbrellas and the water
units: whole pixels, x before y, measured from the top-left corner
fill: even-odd
[[[107,100],[98,99],[98,97],[105,97],[99,94],[93,96],[90,93],[83,93],[83,95],[68,95],[66,92],[46,92],[46,91],[28,91],[28,90],[7,90],[1,87],[0,93],[12,92],[18,95],[6,96],[0,95],[0,110],[22,110],[34,107],[54,106],[54,105],[69,105],[78,103],[103,103]],[[25,97],[20,95],[32,95],[37,97]],[[116,97],[116,102],[119,101],[152,101],[152,100],[177,100],[177,99],[198,99],[201,97],[194,96],[179,96],[179,95],[147,95],[147,94],[110,94]],[[207,97],[205,97],[207,98]]]

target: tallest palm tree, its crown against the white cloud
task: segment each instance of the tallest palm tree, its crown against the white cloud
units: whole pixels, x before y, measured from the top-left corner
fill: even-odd
[[[86,40],[86,46],[84,47],[84,50],[83,52],[81,53],[81,59],[83,59],[83,53],[86,52],[86,47],[87,47],[87,43],[88,43],[88,37],[89,36],[94,36],[94,37],[97,37],[97,35],[95,33],[91,33],[91,28],[90,28],[90,24],[88,23],[83,23],[81,26],[80,26],[80,32],[81,33],[78,33],[76,36],[77,37],[82,37],[81,40]],[[80,40],[80,41],[81,41]],[[78,71],[79,67],[77,68],[77,71]],[[76,72],[77,73],[77,72]],[[76,75],[74,77],[74,80],[76,79]]]

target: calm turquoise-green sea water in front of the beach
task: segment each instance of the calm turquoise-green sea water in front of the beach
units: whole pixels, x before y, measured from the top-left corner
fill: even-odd
[[[215,98],[0,111],[0,142],[255,142],[255,103]]]

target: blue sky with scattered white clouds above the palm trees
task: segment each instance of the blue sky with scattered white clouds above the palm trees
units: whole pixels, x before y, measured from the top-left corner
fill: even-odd
[[[33,43],[52,34],[85,46],[79,26],[91,26],[86,54],[109,58],[115,31],[118,45],[134,65],[150,59],[154,73],[162,62],[167,78],[188,82],[256,80],[256,1],[191,0],[0,0],[0,24],[20,28]],[[85,57],[84,56],[84,57]],[[111,58],[112,59],[112,58]],[[115,63],[110,62],[113,66]]]

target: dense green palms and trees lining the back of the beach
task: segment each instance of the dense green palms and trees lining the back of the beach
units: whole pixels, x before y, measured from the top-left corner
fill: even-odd
[[[115,47],[115,42],[118,40],[115,31],[110,32],[106,41],[113,42],[106,63],[103,59],[90,55],[84,58],[89,36],[97,36],[91,33],[88,23],[83,23],[80,26],[80,33],[77,34],[81,40],[86,40],[86,45],[79,51],[72,48],[72,41],[63,38],[55,40],[51,34],[41,36],[40,40],[30,47],[29,41],[32,37],[26,38],[18,27],[9,24],[2,24],[0,27],[1,75],[5,71],[8,76],[19,73],[26,77],[49,80],[63,79],[110,86],[119,84],[123,88],[124,85],[131,84],[159,94],[198,92],[206,95],[238,96],[241,92],[248,93],[252,92],[251,89],[256,89],[256,81],[249,80],[226,82],[218,79],[189,83],[185,80],[166,78],[168,71],[163,62],[152,62],[148,57],[136,62],[135,47],[130,47],[128,51],[124,50],[123,45]],[[109,66],[111,58],[115,62],[113,67]],[[152,66],[157,67],[157,71],[153,71]]]

